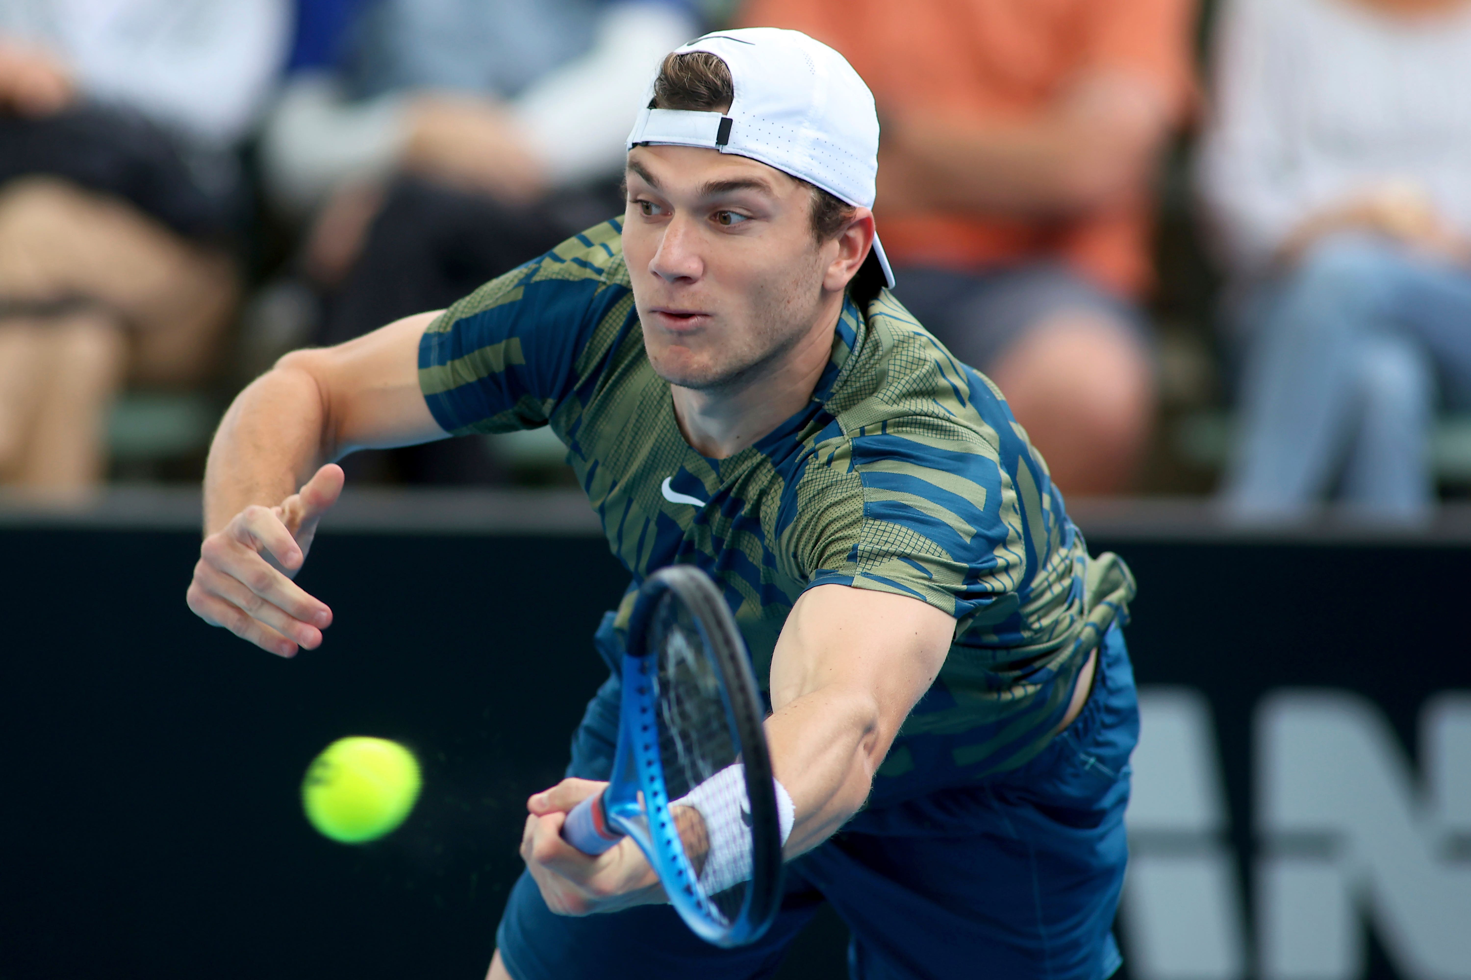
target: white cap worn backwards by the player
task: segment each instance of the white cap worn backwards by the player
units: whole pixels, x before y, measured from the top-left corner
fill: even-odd
[[[691,51],[709,51],[730,68],[736,88],[730,110],[649,109],[650,81],[628,134],[630,150],[660,143],[734,153],[815,184],[847,204],[874,206],[878,112],[874,94],[841,54],[781,28],[706,34],[674,53]],[[872,257],[893,287],[894,273],[877,237]]]

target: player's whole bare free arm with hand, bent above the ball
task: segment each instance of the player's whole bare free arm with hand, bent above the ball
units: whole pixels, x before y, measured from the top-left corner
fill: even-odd
[[[328,463],[447,435],[418,381],[419,338],[435,316],[287,354],[235,398],[204,472],[206,536],[188,588],[200,619],[281,657],[322,642],[331,610],[291,577],[343,488]]]

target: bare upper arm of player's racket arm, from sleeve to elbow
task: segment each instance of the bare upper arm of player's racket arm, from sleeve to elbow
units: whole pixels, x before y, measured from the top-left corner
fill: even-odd
[[[872,698],[887,751],[953,636],[955,619],[915,598],[846,585],[808,589],[777,639],[772,708],[822,689]]]

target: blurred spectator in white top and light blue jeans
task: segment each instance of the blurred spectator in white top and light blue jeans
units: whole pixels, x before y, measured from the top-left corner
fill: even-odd
[[[1200,188],[1239,281],[1225,500],[1415,519],[1471,404],[1471,4],[1237,0]]]

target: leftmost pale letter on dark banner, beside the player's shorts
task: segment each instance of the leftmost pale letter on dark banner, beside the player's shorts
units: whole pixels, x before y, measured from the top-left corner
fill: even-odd
[[[1206,699],[1143,688],[1128,804],[1124,939],[1136,980],[1239,980],[1242,887]]]

